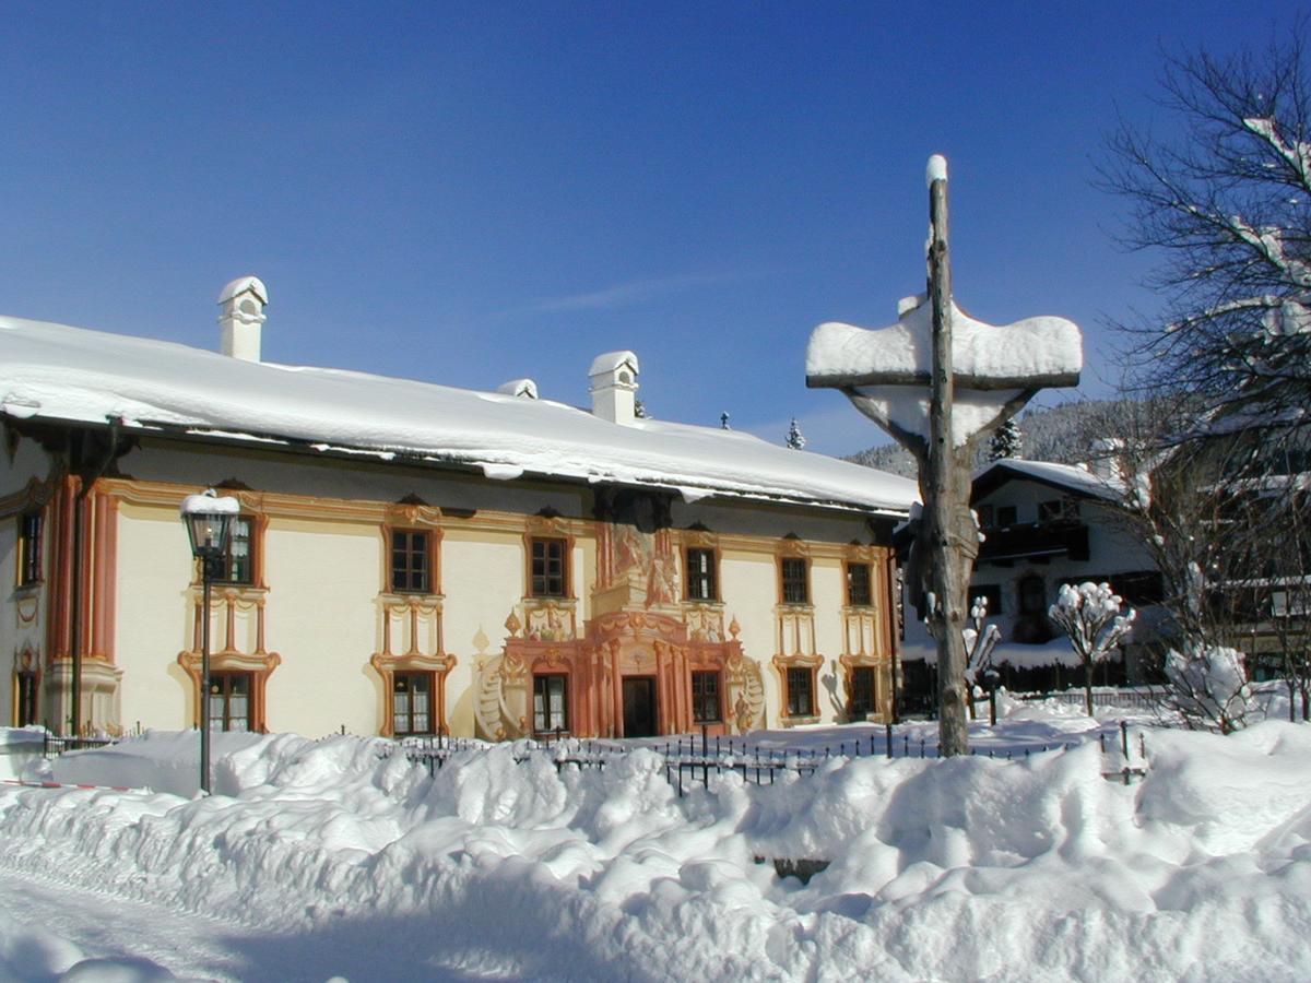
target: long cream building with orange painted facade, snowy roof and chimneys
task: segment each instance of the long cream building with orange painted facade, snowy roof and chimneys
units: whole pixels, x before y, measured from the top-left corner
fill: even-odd
[[[431,401],[416,419],[447,429],[374,426],[396,380],[343,391],[258,362],[243,330],[266,295],[224,290],[222,355],[0,324],[0,717],[197,725],[202,591],[178,506],[203,488],[241,503],[208,621],[224,729],[620,737],[890,712],[910,482],[638,421],[632,353],[593,363],[591,413],[528,380],[409,383]],[[193,402],[177,375],[201,380]],[[338,387],[337,410],[296,385]]]

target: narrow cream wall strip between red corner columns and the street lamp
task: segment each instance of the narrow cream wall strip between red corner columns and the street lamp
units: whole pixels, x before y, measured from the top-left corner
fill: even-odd
[[[191,683],[177,663],[191,644],[191,569],[176,509],[119,505],[114,661],[126,729],[191,723]]]

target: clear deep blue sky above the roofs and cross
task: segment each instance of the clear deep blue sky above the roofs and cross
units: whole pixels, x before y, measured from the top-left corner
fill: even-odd
[[[653,415],[812,450],[885,438],[804,383],[810,329],[923,290],[952,168],[958,303],[1084,329],[1152,307],[1092,186],[1162,48],[1264,46],[1294,4],[5,5],[0,312],[585,404],[632,349]],[[1049,395],[1063,401],[1079,393]]]

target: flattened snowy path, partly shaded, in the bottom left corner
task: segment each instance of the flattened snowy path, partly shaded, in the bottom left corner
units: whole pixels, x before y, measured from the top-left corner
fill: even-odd
[[[75,979],[93,978],[94,966],[111,979],[143,983],[456,983],[520,979],[528,971],[490,952],[443,952],[417,920],[340,920],[308,935],[278,935],[30,877],[0,862],[0,980],[52,983],[75,966]]]

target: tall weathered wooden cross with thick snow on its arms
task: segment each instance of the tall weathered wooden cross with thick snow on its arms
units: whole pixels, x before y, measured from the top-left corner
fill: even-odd
[[[1076,385],[1079,329],[1063,317],[1004,326],[977,321],[952,298],[947,161],[933,156],[928,182],[928,291],[898,304],[897,324],[865,330],[822,324],[806,347],[806,385],[840,389],[915,455],[924,499],[910,581],[936,598],[939,747],[968,754],[965,727],[966,587],[978,554],[969,511],[974,440],[1004,423],[1038,389]]]

